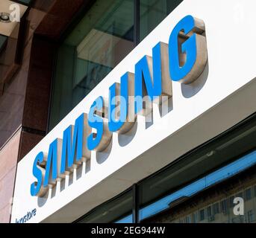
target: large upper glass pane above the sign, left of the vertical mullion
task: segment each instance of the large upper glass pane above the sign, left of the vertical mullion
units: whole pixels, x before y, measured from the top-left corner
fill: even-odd
[[[49,129],[134,48],[134,0],[97,0],[57,54]]]

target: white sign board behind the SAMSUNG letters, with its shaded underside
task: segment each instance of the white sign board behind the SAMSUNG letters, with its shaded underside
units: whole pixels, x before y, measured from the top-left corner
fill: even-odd
[[[255,112],[255,7],[254,0],[184,0],[19,162],[11,222],[34,209],[36,215],[28,222],[72,222]],[[199,80],[187,86],[172,82],[168,114],[160,117],[154,105],[151,126],[146,128],[145,118],[138,116],[128,135],[113,133],[106,152],[92,152],[90,167],[84,164],[72,178],[57,182],[46,198],[31,196],[37,154],[62,138],[63,130],[88,112],[96,97],[107,97],[108,88],[126,71],[134,72],[144,55],[152,56],[154,45],[168,43],[172,29],[187,15],[205,22],[208,62]]]

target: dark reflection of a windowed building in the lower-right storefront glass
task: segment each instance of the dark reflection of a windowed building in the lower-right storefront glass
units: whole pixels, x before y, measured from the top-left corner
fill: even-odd
[[[187,201],[153,216],[146,222],[170,223],[255,223],[255,169],[243,171],[228,181],[222,181],[191,196]],[[244,201],[244,215],[234,214],[234,198]]]

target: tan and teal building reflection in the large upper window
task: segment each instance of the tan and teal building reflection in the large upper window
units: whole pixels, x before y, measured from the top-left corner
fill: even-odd
[[[79,89],[85,89],[85,91],[82,90],[81,95],[84,97],[92,91],[119,62],[124,49],[133,48],[133,46],[134,42],[127,39],[100,30],[91,30],[77,48],[74,94],[78,95]],[[81,74],[82,71],[83,74]]]

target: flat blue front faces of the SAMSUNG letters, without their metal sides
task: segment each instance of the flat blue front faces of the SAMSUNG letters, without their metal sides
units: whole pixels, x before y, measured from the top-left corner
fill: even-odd
[[[180,81],[190,73],[197,59],[196,33],[188,34],[195,28],[195,19],[193,16],[186,16],[172,30],[169,36],[169,73],[171,80]],[[184,42],[181,43],[179,49],[178,38],[181,31],[187,36]],[[181,52],[179,52],[181,51]],[[180,54],[186,54],[186,61],[181,65]],[[135,85],[134,96],[135,114],[143,109],[143,93],[149,96],[151,101],[155,97],[162,94],[162,62],[161,62],[161,46],[160,42],[152,49],[152,65],[149,65],[151,58],[144,56],[135,65]],[[152,68],[150,68],[152,67]],[[116,120],[116,88],[117,84],[113,83],[109,88],[109,105],[108,105],[108,129],[110,132],[118,131],[125,123],[128,116],[128,73],[122,75],[120,83],[120,115]],[[181,83],[183,83],[181,81]],[[88,124],[92,129],[96,129],[96,133],[91,133],[87,137],[87,148],[95,150],[102,141],[104,133],[104,120],[96,112],[101,112],[104,109],[103,97],[98,97],[90,107],[88,114]],[[57,166],[57,143],[54,140],[49,146],[48,158],[46,162],[46,175],[43,180],[43,174],[37,164],[43,162],[43,152],[40,152],[34,159],[33,176],[37,179],[31,184],[31,196],[37,196],[40,192],[40,187],[49,185],[49,179],[54,182],[57,179],[58,173],[65,173],[67,168],[72,167],[74,161],[80,161],[83,157],[83,139],[84,139],[84,114],[75,120],[74,133],[72,135],[72,126],[69,126],[63,132],[62,155],[60,168]],[[60,169],[60,171],[58,171]],[[51,182],[51,181],[50,181]]]

